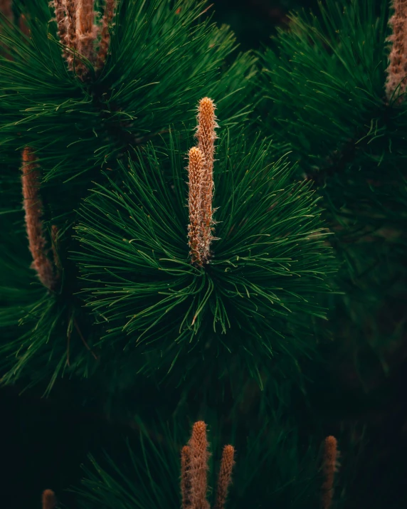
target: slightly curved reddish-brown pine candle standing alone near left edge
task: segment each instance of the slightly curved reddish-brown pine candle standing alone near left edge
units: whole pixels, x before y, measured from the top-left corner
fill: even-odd
[[[23,150],[22,164],[23,208],[26,212],[26,231],[28,248],[33,257],[32,268],[36,271],[39,280],[49,290],[56,289],[56,277],[51,260],[47,256],[46,238],[43,232],[43,203],[39,196],[40,172],[36,164],[36,156],[32,149]]]

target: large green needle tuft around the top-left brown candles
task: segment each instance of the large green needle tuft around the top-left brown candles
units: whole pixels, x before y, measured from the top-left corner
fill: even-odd
[[[247,115],[244,98],[250,85],[244,84],[254,59],[238,56],[218,79],[234,38],[207,17],[197,23],[204,6],[195,1],[120,2],[110,56],[100,75],[90,70],[90,83],[68,72],[56,23],[49,23],[48,2],[24,6],[29,39],[3,21],[12,58],[1,61],[0,78],[0,128],[8,149],[34,147],[44,178],[66,182],[111,168],[128,147],[166,131],[170,123],[191,121],[201,95],[213,95],[228,125]]]

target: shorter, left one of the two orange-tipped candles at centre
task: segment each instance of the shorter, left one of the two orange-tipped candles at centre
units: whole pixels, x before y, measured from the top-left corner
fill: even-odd
[[[189,195],[188,195],[188,208],[189,208],[189,225],[188,225],[188,238],[191,262],[196,265],[202,265],[201,256],[201,187],[202,187],[202,173],[203,173],[204,159],[203,154],[199,148],[192,147],[189,150],[189,164],[188,164],[188,178],[189,178]]]

